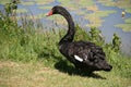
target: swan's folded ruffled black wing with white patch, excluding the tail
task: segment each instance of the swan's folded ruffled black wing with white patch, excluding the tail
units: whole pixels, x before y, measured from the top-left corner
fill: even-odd
[[[69,57],[73,57],[75,61],[84,62],[84,61],[94,61],[95,59],[104,58],[105,53],[100,47],[95,46],[92,42],[79,41],[74,42],[70,50]]]

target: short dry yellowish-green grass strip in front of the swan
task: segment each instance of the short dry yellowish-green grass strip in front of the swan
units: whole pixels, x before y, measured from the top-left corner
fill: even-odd
[[[0,62],[0,87],[128,87],[131,78],[95,72],[90,76],[69,75],[40,63]]]

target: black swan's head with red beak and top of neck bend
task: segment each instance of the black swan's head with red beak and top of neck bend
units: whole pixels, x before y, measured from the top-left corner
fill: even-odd
[[[61,15],[66,15],[68,14],[69,12],[63,8],[63,7],[60,7],[60,5],[56,5],[53,7],[49,13],[47,13],[47,16],[50,16],[50,15],[53,15],[53,14],[61,14]]]

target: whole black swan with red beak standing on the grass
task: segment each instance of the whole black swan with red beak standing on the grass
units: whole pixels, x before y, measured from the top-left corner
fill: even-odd
[[[56,5],[47,14],[61,14],[68,22],[69,30],[59,41],[60,52],[75,65],[75,69],[87,71],[110,71],[112,69],[106,61],[103,49],[90,41],[73,41],[75,34],[74,22],[70,13],[62,7]]]

